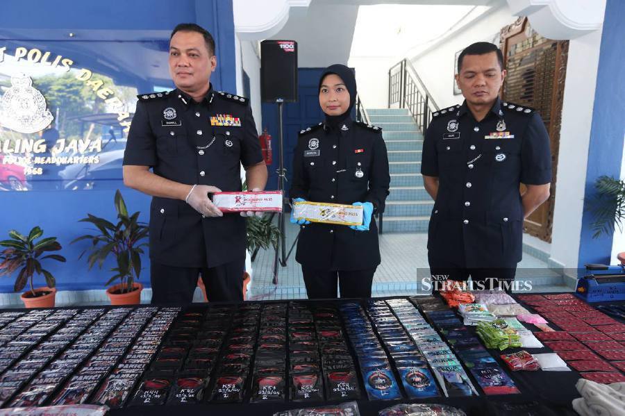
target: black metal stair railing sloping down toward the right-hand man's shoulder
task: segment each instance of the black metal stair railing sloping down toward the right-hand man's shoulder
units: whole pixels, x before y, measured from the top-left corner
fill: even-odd
[[[406,58],[388,70],[388,107],[394,104],[407,108],[423,133],[428,128],[432,113],[438,110],[436,101]]]

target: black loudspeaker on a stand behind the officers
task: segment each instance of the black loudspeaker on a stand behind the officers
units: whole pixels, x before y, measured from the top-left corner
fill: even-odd
[[[260,42],[260,97],[265,102],[297,102],[297,42]]]

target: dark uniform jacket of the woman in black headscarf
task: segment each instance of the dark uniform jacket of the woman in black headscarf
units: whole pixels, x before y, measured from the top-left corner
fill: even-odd
[[[381,128],[345,119],[337,128],[319,123],[299,133],[294,150],[292,199],[344,203],[369,201],[384,211],[390,175]],[[374,211],[375,213],[375,211]],[[301,226],[296,259],[322,270],[359,270],[380,264],[378,228],[311,223]]]

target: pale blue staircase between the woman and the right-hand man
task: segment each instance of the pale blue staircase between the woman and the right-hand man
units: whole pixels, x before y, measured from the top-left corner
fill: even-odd
[[[383,216],[384,233],[426,233],[434,201],[421,176],[423,135],[405,108],[368,109],[369,122],[382,128],[388,151],[390,194]]]

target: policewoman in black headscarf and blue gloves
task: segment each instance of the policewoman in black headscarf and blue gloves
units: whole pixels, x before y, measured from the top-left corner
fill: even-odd
[[[294,201],[362,205],[360,226],[301,224],[296,259],[301,263],[309,299],[371,297],[380,264],[374,213],[384,211],[390,174],[381,128],[354,122],[356,78],[344,65],[326,68],[319,80],[324,123],[299,132],[294,150]]]

